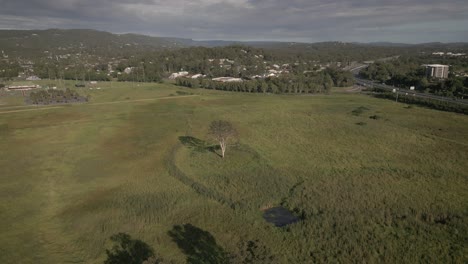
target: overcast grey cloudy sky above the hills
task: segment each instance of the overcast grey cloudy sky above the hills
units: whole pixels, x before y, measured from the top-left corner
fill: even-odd
[[[0,29],[195,40],[468,42],[466,0],[0,0]]]

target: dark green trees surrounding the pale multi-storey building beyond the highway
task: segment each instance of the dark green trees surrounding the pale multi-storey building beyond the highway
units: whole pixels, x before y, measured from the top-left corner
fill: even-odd
[[[440,80],[426,77],[423,64],[450,65],[449,78]],[[385,82],[396,87],[415,86],[419,91],[449,97],[468,96],[468,77],[458,77],[455,73],[468,72],[465,57],[405,56],[388,62],[376,62],[360,72],[361,77]]]

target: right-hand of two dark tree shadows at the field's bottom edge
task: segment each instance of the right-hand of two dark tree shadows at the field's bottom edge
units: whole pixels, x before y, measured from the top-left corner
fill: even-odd
[[[187,255],[190,264],[228,263],[226,251],[207,231],[191,224],[176,225],[168,232],[177,246]]]

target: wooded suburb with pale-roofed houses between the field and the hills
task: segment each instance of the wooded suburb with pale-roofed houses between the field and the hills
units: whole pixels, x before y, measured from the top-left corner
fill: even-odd
[[[302,83],[302,85],[307,85],[306,82],[322,85],[323,83],[319,80],[324,79],[323,74],[315,74],[316,71],[321,70],[321,65],[319,61],[313,61],[313,58],[307,55],[285,56],[278,51],[245,46],[195,47],[133,56],[114,65],[114,71],[111,74],[107,74],[108,65],[105,63],[97,63],[88,67],[79,63],[91,60],[89,57],[79,60],[69,58],[60,63],[41,60],[36,62],[34,72],[40,78],[45,79],[109,81],[115,78],[119,81],[160,82],[163,77],[181,70],[191,74],[203,74],[208,78],[228,76],[250,79],[252,76],[267,74],[268,70],[275,69],[273,67],[275,66],[279,67],[276,68],[278,71],[290,73],[289,77],[294,82]],[[351,74],[334,69],[336,64],[331,66],[327,74],[334,79],[335,85],[352,84]],[[131,72],[124,73],[125,69],[131,69]],[[296,81],[296,79],[308,80]],[[307,87],[307,89],[313,88]]]

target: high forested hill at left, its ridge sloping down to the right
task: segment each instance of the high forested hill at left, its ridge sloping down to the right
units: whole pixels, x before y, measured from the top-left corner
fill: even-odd
[[[112,34],[89,29],[0,30],[0,49],[10,56],[35,57],[86,52],[118,56],[142,51],[186,47],[176,38]]]

